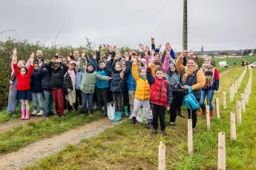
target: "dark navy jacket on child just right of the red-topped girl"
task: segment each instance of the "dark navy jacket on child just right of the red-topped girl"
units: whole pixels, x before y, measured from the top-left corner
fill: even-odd
[[[30,91],[42,92],[42,75],[39,70],[33,70],[33,74],[30,77]]]

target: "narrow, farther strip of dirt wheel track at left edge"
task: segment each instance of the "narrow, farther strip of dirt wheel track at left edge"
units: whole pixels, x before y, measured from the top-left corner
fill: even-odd
[[[30,118],[30,120],[11,120],[7,121],[6,123],[0,124],[0,134],[15,128],[16,126],[26,126],[27,123],[30,122],[39,122],[40,120],[45,119],[45,116],[33,116]]]

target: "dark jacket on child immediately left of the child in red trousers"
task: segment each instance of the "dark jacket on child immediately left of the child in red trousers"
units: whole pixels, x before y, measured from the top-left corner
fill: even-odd
[[[51,66],[43,63],[39,67],[39,72],[43,76],[42,89],[50,89]]]

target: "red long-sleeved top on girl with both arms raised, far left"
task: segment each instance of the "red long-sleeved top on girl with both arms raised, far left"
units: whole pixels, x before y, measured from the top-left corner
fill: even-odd
[[[18,78],[17,90],[27,90],[30,89],[30,77],[33,73],[33,66],[27,70],[27,74],[21,75],[19,72],[18,64],[13,64],[13,69],[16,77]]]

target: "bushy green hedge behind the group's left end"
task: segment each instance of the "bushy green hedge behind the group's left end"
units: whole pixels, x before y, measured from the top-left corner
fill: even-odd
[[[73,51],[74,48],[71,46],[54,46],[45,47],[44,44],[37,41],[36,43],[29,43],[27,40],[18,41],[16,39],[9,38],[7,41],[0,41],[0,109],[4,109],[8,102],[8,92],[9,92],[9,79],[11,72],[11,54],[13,48],[18,51],[18,60],[27,61],[30,54],[37,50],[43,50],[44,58],[53,58],[56,52],[60,52],[60,55],[67,56],[68,51]],[[81,47],[79,47],[81,50]]]

